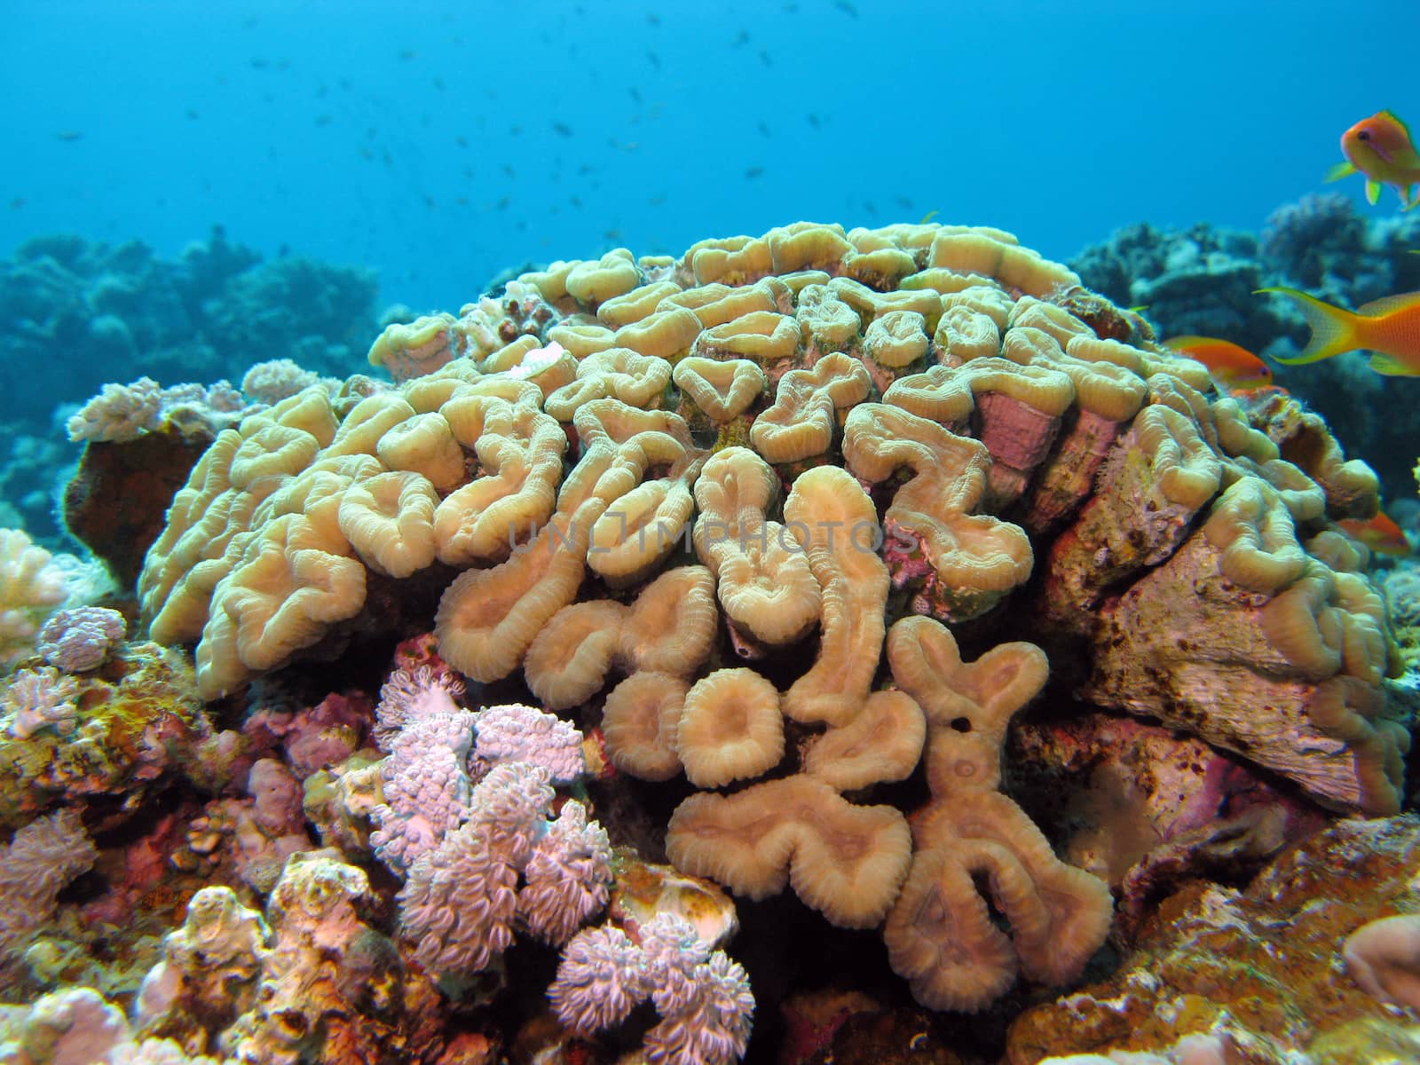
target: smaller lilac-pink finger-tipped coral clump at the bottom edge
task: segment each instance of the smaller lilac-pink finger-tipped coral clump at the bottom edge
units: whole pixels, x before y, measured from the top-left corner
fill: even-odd
[[[581,1035],[619,1024],[650,998],[662,1018],[646,1032],[655,1065],[738,1061],[754,1021],[744,968],[670,913],[640,930],[640,944],[615,926],[577,933],[547,994],[562,1025]]]

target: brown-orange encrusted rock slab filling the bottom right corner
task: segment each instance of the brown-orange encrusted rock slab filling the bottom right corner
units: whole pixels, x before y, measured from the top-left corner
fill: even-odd
[[[1242,890],[1186,886],[1106,983],[1017,1020],[1007,1061],[1164,1055],[1187,1035],[1231,1045],[1224,1061],[1264,1065],[1413,1058],[1413,1000],[1396,1011],[1386,1004],[1394,990],[1377,991],[1396,988],[1400,968],[1413,974],[1414,956],[1402,957],[1404,941],[1377,951],[1365,929],[1376,919],[1413,923],[1417,846],[1413,815],[1342,821]]]

